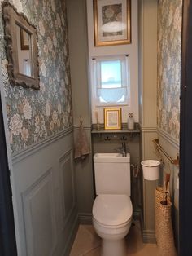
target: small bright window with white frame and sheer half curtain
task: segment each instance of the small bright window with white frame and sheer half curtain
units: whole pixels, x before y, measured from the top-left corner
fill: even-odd
[[[96,105],[129,103],[128,58],[117,56],[93,60]]]

